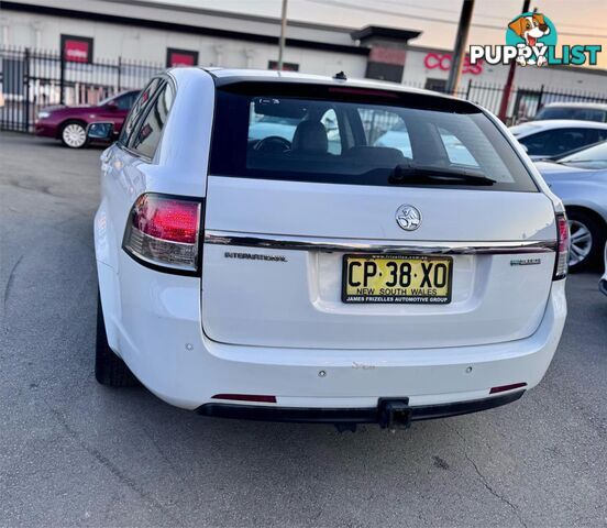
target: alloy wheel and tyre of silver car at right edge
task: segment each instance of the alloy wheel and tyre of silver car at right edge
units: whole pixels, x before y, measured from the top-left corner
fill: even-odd
[[[577,272],[595,266],[603,256],[605,232],[593,215],[567,210],[571,231],[570,270]]]

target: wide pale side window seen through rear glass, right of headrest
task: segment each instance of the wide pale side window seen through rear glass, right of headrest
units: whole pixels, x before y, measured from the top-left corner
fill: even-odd
[[[409,132],[402,118],[395,112],[358,109],[367,145],[398,148],[404,156],[413,157]]]

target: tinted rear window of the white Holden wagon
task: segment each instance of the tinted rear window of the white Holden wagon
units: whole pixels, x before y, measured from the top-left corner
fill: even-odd
[[[398,185],[537,191],[497,127],[462,101],[276,82],[218,89],[212,175],[388,186],[399,167],[495,183],[412,178]]]

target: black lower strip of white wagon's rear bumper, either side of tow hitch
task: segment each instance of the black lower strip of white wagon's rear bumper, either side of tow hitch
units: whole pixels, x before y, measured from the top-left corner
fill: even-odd
[[[525,391],[515,391],[503,396],[455,402],[437,405],[408,407],[409,420],[430,420],[449,416],[467,415],[493,409],[516,402]],[[363,408],[318,408],[318,407],[261,407],[256,405],[205,404],[196,411],[218,418],[244,420],[289,421],[296,424],[379,424],[386,427],[380,406]]]

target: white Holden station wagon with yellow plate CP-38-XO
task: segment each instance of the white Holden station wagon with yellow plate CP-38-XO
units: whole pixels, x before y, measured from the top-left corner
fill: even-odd
[[[207,416],[395,428],[514,402],[552,360],[564,209],[471,102],[179,68],[101,161],[102,384]]]

